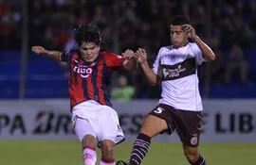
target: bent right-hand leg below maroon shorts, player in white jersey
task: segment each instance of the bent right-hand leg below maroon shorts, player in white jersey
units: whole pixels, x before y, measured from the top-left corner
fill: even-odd
[[[206,160],[201,157],[197,147],[183,145],[184,155],[192,165],[206,165]]]

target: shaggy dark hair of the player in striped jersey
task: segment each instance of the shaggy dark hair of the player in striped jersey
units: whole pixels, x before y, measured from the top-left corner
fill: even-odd
[[[77,28],[75,28],[74,39],[80,46],[84,41],[91,41],[96,45],[100,45],[102,41],[99,28],[90,24],[79,25]]]

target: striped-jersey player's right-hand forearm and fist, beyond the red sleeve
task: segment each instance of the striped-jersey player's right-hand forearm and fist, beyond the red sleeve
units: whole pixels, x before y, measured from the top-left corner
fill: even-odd
[[[123,58],[123,67],[128,71],[137,70],[137,58],[135,56],[134,51],[127,49],[124,53],[122,53]]]

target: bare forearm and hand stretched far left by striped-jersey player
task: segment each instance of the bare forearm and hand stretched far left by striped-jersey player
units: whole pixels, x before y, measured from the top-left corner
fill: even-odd
[[[32,46],[32,51],[38,55],[44,55],[49,58],[53,58],[55,60],[62,60],[62,52],[54,51],[54,50],[46,50],[42,46]]]

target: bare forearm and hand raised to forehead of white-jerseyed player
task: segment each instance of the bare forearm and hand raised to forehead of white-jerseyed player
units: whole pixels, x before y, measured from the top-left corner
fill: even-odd
[[[191,38],[192,41],[194,41],[198,45],[198,47],[201,49],[205,58],[207,58],[208,60],[214,60],[215,59],[215,54],[213,53],[213,51],[210,49],[210,47],[204,41],[202,41],[196,35],[195,30],[192,27],[192,25],[183,25],[182,28],[187,33],[188,38]]]

